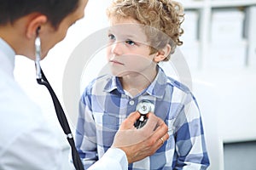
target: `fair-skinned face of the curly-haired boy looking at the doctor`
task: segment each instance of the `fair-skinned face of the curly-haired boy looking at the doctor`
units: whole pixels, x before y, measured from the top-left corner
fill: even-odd
[[[155,68],[155,54],[150,54],[148,38],[137,20],[111,17],[110,26],[107,57],[114,76],[141,74]]]

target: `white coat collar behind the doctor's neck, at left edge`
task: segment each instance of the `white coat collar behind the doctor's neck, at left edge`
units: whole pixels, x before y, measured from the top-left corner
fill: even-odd
[[[15,70],[15,51],[0,37],[0,69],[13,76]]]

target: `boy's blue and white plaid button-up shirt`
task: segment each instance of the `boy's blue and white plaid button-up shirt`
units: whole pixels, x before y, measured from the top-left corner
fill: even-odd
[[[76,131],[84,167],[102,157],[120,124],[143,99],[154,103],[154,114],[166,122],[170,138],[153,156],[130,164],[129,169],[207,169],[209,159],[195,98],[160,67],[154,82],[135,97],[124,91],[117,77],[99,77],[85,88]]]

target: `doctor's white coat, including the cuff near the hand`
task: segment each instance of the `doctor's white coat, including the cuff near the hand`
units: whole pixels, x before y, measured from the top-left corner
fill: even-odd
[[[15,52],[0,38],[0,169],[61,170],[55,129],[14,78]],[[24,77],[26,78],[26,77]],[[110,149],[90,169],[127,169],[125,152]]]

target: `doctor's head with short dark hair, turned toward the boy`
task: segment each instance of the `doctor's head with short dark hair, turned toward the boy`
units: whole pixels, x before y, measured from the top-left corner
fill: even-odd
[[[41,39],[42,58],[67,29],[84,17],[88,0],[0,0],[0,37],[16,54],[34,59],[34,42]]]

